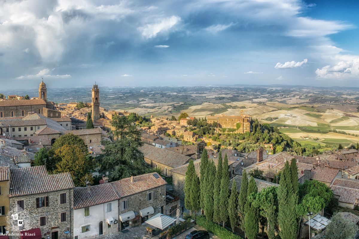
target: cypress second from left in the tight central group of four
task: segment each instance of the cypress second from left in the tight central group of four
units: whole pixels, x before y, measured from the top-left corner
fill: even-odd
[[[214,206],[213,206],[213,187],[214,182],[216,178],[216,166],[211,160],[208,163],[207,170],[206,170],[206,191],[205,191],[205,212],[206,212],[206,219],[208,221],[213,220],[213,212],[214,212]]]

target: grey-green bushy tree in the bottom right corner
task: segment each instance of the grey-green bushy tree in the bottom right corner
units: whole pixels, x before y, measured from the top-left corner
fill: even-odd
[[[343,218],[341,214],[332,216],[325,229],[325,238],[328,239],[352,239],[358,232],[358,226]]]

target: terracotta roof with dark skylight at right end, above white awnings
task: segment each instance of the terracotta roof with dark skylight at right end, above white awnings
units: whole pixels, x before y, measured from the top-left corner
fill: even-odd
[[[158,178],[155,178],[154,175],[158,176]],[[167,182],[157,173],[147,173],[133,177],[133,183],[131,183],[131,178],[123,178],[119,181],[111,182],[111,184],[119,193],[120,197],[126,197],[166,185]]]

